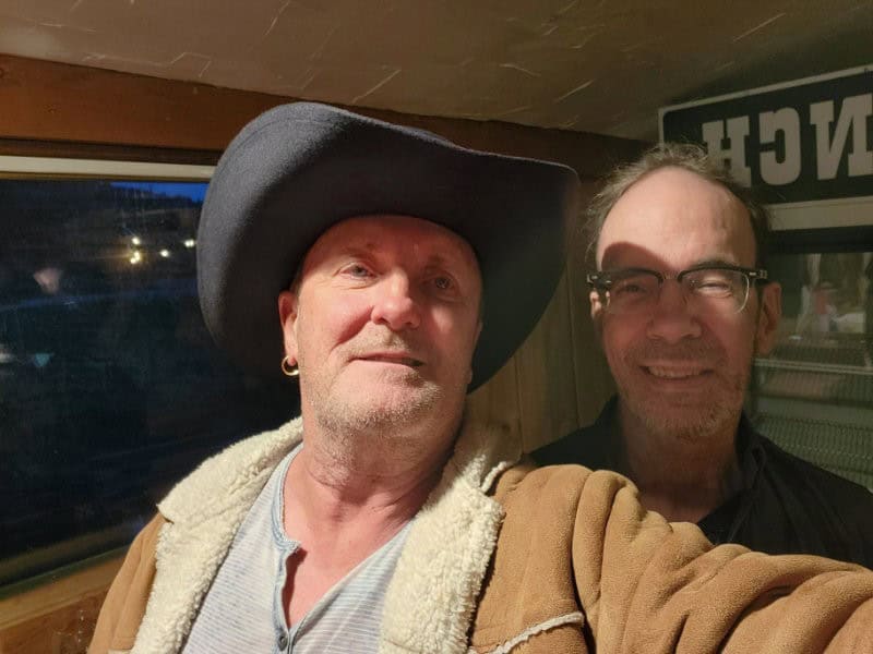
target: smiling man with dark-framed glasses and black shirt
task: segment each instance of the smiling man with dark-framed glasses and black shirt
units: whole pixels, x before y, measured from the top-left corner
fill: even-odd
[[[714,543],[873,566],[873,494],[743,414],[781,314],[766,209],[703,149],[665,145],[615,171],[589,213],[591,316],[618,397],[537,462],[617,470],[645,508]]]

